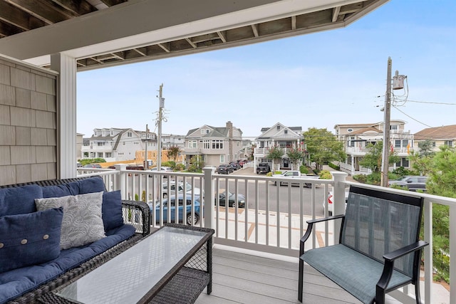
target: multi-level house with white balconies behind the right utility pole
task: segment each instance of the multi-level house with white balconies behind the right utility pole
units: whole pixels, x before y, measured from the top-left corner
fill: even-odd
[[[346,161],[341,163],[341,170],[348,174],[368,174],[367,168],[363,168],[359,162],[369,152],[366,148],[369,144],[383,141],[383,122],[366,124],[341,124],[335,125],[337,139],[344,142],[347,154]],[[391,165],[389,169],[396,167],[410,168],[408,156],[413,148],[413,135],[405,131],[403,120],[390,121],[390,150],[400,157],[400,161]]]

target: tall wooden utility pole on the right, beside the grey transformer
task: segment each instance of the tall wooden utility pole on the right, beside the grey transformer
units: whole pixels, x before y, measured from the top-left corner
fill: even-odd
[[[388,168],[390,162],[390,116],[391,116],[391,66],[393,61],[388,57],[388,71],[386,73],[386,93],[385,93],[385,118],[383,126],[383,153],[380,184],[382,187],[388,187]]]

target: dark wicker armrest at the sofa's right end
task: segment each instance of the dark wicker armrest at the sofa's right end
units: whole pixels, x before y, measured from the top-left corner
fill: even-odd
[[[135,227],[136,232],[150,234],[150,208],[144,201],[122,201],[123,221]]]

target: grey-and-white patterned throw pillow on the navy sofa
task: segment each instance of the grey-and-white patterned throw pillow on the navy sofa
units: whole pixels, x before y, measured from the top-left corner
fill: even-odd
[[[63,207],[61,249],[83,246],[105,237],[102,203],[103,192],[35,199],[38,211]]]

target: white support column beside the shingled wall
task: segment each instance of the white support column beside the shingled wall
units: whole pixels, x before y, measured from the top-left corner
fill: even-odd
[[[51,55],[51,70],[57,81],[57,171],[58,178],[76,177],[76,58]]]

